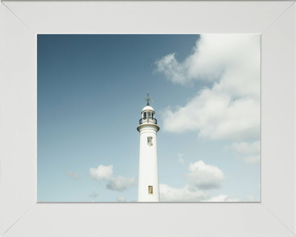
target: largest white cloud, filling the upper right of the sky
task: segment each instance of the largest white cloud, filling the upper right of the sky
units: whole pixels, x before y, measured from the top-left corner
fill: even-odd
[[[199,137],[232,140],[260,135],[259,35],[201,35],[182,63],[169,54],[156,64],[174,83],[211,84],[184,107],[162,111],[165,131],[198,130]]]

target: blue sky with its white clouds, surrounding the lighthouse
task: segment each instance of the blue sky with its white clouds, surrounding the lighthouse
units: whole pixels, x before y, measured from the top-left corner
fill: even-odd
[[[258,35],[38,35],[37,200],[135,200],[147,91],[161,201],[260,201]]]

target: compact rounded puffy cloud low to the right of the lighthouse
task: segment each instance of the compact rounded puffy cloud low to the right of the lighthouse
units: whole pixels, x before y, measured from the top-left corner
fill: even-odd
[[[220,188],[221,181],[224,180],[225,176],[217,166],[204,164],[202,160],[198,162],[190,163],[189,171],[184,175],[188,184],[193,185],[199,189],[213,189]]]

